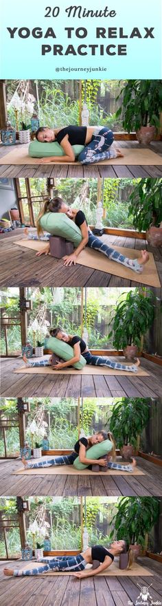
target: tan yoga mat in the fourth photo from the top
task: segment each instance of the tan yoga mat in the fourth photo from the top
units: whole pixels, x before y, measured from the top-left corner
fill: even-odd
[[[47,459],[47,457],[44,457]],[[51,457],[49,457],[51,459]],[[38,459],[40,462],[42,459]],[[12,475],[146,475],[135,467],[133,471],[122,471],[122,469],[108,469],[108,471],[91,471],[91,469],[76,469],[73,465],[58,465],[58,467],[39,467],[38,469],[25,469],[21,468],[14,471]]]

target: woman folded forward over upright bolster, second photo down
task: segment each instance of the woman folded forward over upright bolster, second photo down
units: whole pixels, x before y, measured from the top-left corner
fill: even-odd
[[[65,266],[71,266],[72,264],[76,265],[77,257],[80,255],[80,252],[85,248],[85,246],[94,248],[94,250],[98,250],[98,252],[102,252],[103,255],[106,255],[106,257],[111,259],[111,261],[122,263],[122,265],[124,265],[126,268],[140,274],[143,271],[143,265],[148,262],[149,255],[147,250],[141,250],[141,254],[139,255],[138,259],[128,259],[128,257],[124,257],[124,255],[121,255],[119,252],[117,252],[117,250],[114,250],[107,244],[104,244],[102,239],[97,238],[95,235],[93,235],[93,232],[91,232],[82,210],[77,210],[75,208],[71,208],[71,206],[67,206],[67,204],[65,204],[60,197],[49,199],[47,202],[45,202],[45,204],[43,204],[43,208],[41,208],[37,219],[37,233],[39,239],[46,239],[47,241],[47,238],[50,236],[50,234],[43,235],[43,230],[40,226],[40,219],[46,213],[64,213],[80,228],[82,241],[71,253],[71,255],[63,257]],[[27,235],[26,228],[25,235]],[[29,239],[37,239],[37,237],[32,235],[32,233],[30,233],[28,237]],[[41,252],[37,252],[36,255],[37,257],[40,257],[40,255],[43,255],[44,253],[45,255],[49,254],[49,243],[45,245],[45,248],[43,248]]]

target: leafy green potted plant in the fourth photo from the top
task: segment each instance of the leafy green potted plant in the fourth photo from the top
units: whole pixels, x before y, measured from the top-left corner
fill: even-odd
[[[149,404],[143,398],[122,398],[113,405],[109,427],[124,460],[132,457],[149,418]]]

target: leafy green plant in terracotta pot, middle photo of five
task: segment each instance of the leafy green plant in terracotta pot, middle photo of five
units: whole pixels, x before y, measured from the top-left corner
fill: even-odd
[[[119,296],[111,311],[111,332],[115,349],[123,349],[126,360],[132,362],[141,350],[141,338],[154,321],[155,296],[147,288],[135,288]],[[112,327],[113,316],[113,327]]]

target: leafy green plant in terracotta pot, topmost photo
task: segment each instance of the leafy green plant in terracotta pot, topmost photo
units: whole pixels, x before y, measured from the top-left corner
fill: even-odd
[[[116,100],[120,96],[122,105],[117,110],[116,118],[123,114],[124,129],[128,133],[135,131],[139,143],[148,145],[160,126],[161,80],[127,80]]]

